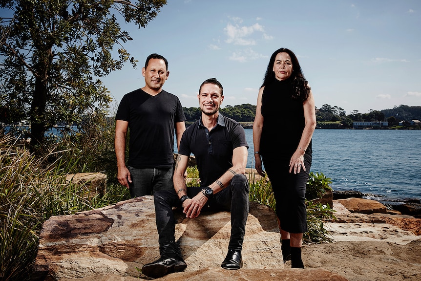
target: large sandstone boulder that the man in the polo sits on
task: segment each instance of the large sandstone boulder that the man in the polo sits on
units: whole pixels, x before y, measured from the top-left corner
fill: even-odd
[[[220,268],[228,249],[230,213],[188,219],[179,212],[176,218],[176,239],[188,264],[186,272]],[[279,238],[274,212],[252,202],[243,269],[282,269]],[[52,216],[40,234],[34,276],[45,281],[97,274],[137,277],[136,268],[159,258],[158,247],[152,196],[72,216]]]

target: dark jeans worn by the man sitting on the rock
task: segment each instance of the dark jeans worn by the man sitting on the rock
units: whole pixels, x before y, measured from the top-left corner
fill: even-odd
[[[203,187],[188,187],[190,198],[198,194]],[[174,190],[157,191],[153,195],[155,202],[156,228],[159,235],[159,253],[162,255],[178,255],[180,250],[175,242],[175,218],[172,207],[181,207],[178,195]],[[231,211],[230,250],[241,251],[243,248],[246,221],[249,214],[249,181],[244,174],[237,174],[229,186],[213,195],[208,200],[209,210]],[[206,206],[205,206],[206,207]],[[205,211],[206,209],[203,209]]]

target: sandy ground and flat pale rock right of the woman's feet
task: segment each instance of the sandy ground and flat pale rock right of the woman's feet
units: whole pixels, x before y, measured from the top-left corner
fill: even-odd
[[[334,209],[343,215],[335,204]],[[421,236],[414,234],[420,233],[419,222],[418,231],[388,223],[326,223],[335,242],[304,245],[304,265],[348,281],[421,281]]]

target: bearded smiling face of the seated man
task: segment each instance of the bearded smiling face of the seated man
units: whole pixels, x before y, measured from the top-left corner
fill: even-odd
[[[221,89],[215,84],[203,85],[197,97],[199,98],[200,109],[206,115],[215,114],[224,100]]]

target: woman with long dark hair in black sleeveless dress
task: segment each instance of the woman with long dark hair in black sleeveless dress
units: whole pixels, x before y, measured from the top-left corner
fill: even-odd
[[[295,54],[276,50],[257,98],[253,144],[260,175],[265,172],[276,201],[284,263],[304,268],[303,233],[307,232],[305,191],[316,128],[315,103]],[[262,161],[265,172],[262,170]]]

